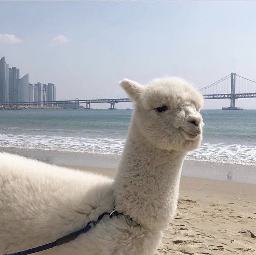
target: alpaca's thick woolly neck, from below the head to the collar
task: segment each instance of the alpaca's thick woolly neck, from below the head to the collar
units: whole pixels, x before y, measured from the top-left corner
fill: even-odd
[[[114,182],[117,211],[148,228],[173,219],[184,152],[155,148],[132,122]]]

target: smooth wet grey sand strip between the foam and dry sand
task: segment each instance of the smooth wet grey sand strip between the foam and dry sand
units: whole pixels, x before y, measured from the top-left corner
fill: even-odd
[[[75,168],[117,169],[120,155],[0,147],[0,152],[18,154],[53,165]],[[256,166],[185,160],[182,176],[256,184]]]

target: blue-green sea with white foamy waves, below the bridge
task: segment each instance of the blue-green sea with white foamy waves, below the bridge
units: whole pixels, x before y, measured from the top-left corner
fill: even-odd
[[[202,110],[187,160],[256,166],[256,110]],[[132,110],[0,110],[0,147],[120,155]]]

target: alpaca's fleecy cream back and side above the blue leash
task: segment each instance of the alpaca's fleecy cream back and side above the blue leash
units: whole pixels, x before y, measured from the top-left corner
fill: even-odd
[[[0,153],[0,253],[52,242],[110,212],[111,186],[108,177]]]

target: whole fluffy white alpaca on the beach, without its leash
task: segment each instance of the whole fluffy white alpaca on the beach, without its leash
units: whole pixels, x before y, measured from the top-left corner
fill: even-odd
[[[75,240],[37,254],[153,255],[174,217],[187,151],[202,139],[202,95],[178,78],[122,80],[135,102],[114,181],[0,153],[0,254],[53,242],[104,218]]]

